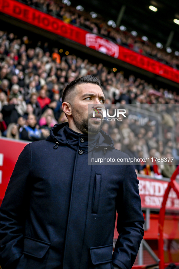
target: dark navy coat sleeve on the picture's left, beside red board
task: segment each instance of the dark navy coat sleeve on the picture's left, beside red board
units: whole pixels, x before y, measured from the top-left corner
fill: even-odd
[[[25,212],[29,202],[30,144],[15,164],[0,208],[0,264],[2,269],[15,268],[22,256]]]

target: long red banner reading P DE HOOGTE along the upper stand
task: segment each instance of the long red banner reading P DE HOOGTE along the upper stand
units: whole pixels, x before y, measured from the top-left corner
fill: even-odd
[[[179,70],[15,0],[0,0],[0,12],[179,83]]]

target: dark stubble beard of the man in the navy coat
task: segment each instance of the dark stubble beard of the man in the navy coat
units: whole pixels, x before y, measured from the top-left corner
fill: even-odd
[[[98,126],[95,127],[89,122],[91,117],[93,117],[93,113],[89,114],[87,119],[78,119],[77,117],[73,116],[73,121],[76,128],[84,134],[98,134],[103,127],[104,121],[100,120],[100,124],[99,121],[94,121],[94,124],[98,124]]]

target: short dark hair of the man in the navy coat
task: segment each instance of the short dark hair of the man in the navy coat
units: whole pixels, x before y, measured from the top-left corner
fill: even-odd
[[[70,83],[67,84],[65,90],[63,91],[62,97],[61,97],[61,102],[65,102],[66,97],[68,96],[69,93],[71,93],[73,90],[75,90],[75,86],[83,83],[92,83],[96,84],[99,87],[101,87],[100,80],[93,76],[93,75],[87,75],[84,77],[80,77],[78,79],[75,79],[71,81]]]

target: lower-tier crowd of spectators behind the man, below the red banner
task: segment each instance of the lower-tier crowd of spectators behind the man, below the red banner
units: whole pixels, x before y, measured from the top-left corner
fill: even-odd
[[[145,124],[140,124],[135,117],[127,117],[122,122],[106,121],[103,130],[111,135],[115,148],[127,152],[131,158],[172,155],[175,162],[167,163],[163,168],[157,162],[153,165],[141,162],[136,166],[139,173],[170,177],[175,167],[173,164],[179,163],[179,95],[176,92],[154,89],[134,75],[124,78],[124,72],[114,73],[102,63],[92,64],[75,55],[61,59],[58,49],[51,53],[48,43],[40,47],[39,43],[33,42],[26,49],[27,36],[18,39],[13,33],[0,31],[2,136],[27,141],[48,137],[54,124],[67,121],[61,109],[61,96],[66,84],[92,74],[101,80],[107,106],[131,104],[140,108],[148,105],[145,107],[147,111],[153,104],[155,114],[160,109],[157,107],[162,107],[163,138],[158,131],[157,120],[150,117]],[[114,107],[111,107],[110,115],[114,114],[113,110]]]

